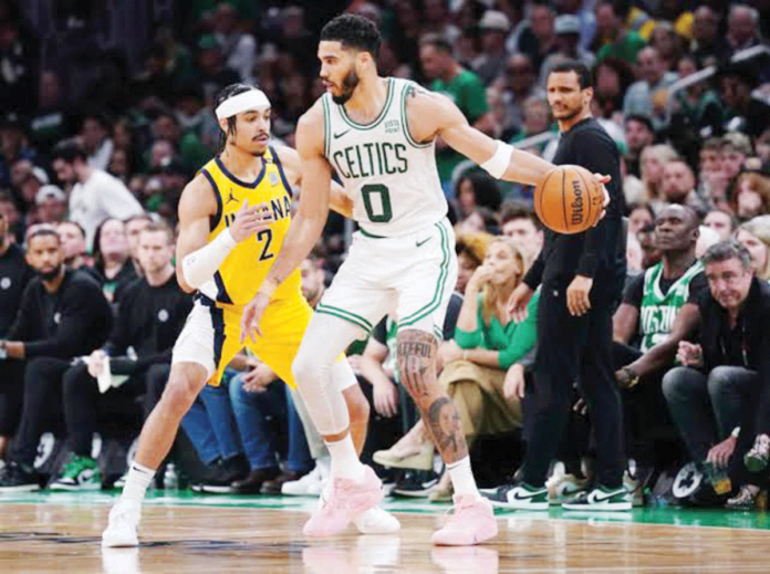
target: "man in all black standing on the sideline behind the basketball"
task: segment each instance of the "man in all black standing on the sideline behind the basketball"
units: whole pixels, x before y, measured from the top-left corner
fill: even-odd
[[[566,236],[549,230],[540,257],[511,295],[513,316],[520,320],[533,291],[541,289],[538,354],[524,397],[528,442],[522,481],[492,495],[504,508],[548,509],[548,468],[569,418],[573,384],[579,382],[594,427],[597,480],[590,491],[562,505],[631,510],[631,497],[623,488],[623,416],[612,364],[612,314],[625,276],[625,261],[616,257],[624,210],[620,154],[591,117],[592,97],[591,73],[584,65],[568,61],[549,74],[549,104],[561,131],[553,163],[611,176],[610,203],[605,217],[585,232]]]

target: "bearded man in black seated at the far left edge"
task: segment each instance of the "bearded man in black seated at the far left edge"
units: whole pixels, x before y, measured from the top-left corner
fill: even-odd
[[[7,340],[7,361],[23,361],[24,407],[0,470],[0,493],[37,490],[33,462],[45,426],[62,413],[62,376],[72,359],[98,348],[110,335],[113,316],[102,290],[85,273],[64,268],[55,231],[34,231],[27,241],[27,261],[39,276],[29,282]]]

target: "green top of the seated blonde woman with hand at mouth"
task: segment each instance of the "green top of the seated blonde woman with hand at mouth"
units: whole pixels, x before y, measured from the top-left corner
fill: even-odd
[[[487,351],[498,351],[498,363],[500,368],[507,371],[516,362],[522,359],[534,346],[538,338],[538,300],[540,291],[537,291],[527,310],[529,314],[521,323],[510,321],[502,325],[497,315],[492,315],[489,325],[483,323],[481,316],[481,295],[479,295],[479,312],[477,316],[477,328],[474,332],[455,328],[455,342],[460,348],[486,348]]]

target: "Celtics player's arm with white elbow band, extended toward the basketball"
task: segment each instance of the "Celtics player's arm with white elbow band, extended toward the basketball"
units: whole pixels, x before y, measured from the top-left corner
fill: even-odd
[[[555,167],[533,154],[513,149],[479,132],[468,124],[454,102],[435,92],[412,88],[407,97],[407,118],[410,135],[416,142],[441,136],[449,147],[485,167],[498,179],[534,186]]]

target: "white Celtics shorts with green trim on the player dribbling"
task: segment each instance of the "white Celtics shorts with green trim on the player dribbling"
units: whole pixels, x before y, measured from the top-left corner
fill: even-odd
[[[370,332],[394,311],[399,330],[425,331],[443,341],[444,316],[456,283],[455,233],[446,218],[396,238],[358,231],[315,312]]]

